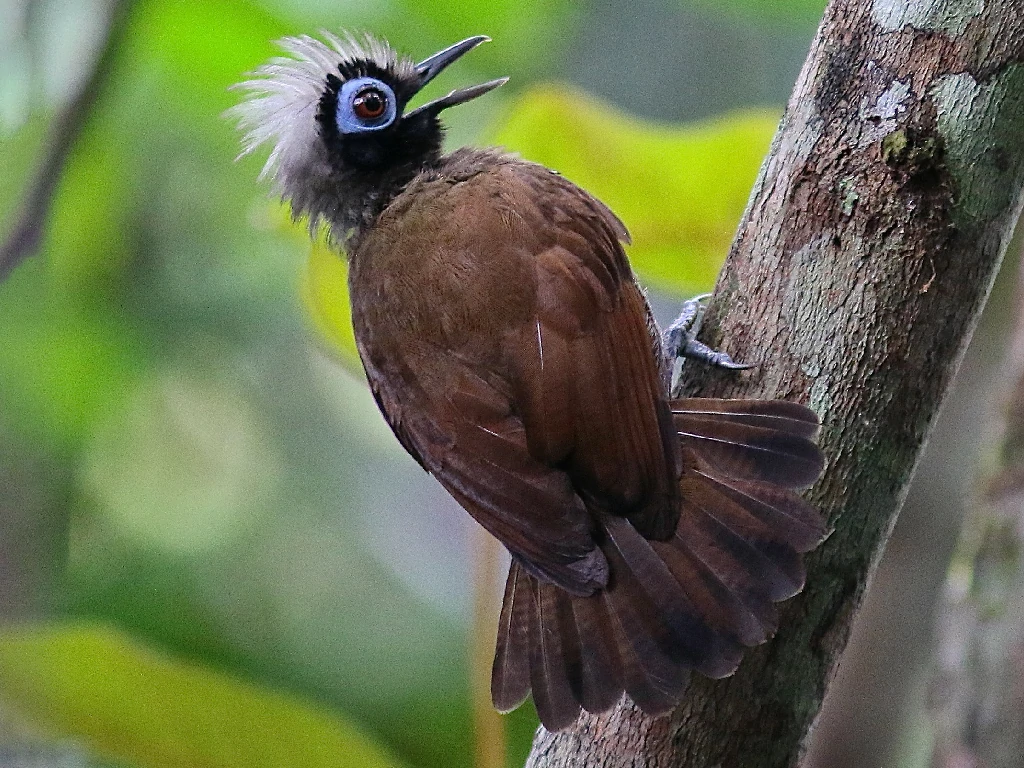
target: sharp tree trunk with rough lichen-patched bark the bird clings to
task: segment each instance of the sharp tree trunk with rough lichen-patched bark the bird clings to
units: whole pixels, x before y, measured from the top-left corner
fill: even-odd
[[[760,362],[687,393],[824,421],[836,526],[782,629],[671,716],[623,703],[527,766],[792,766],[988,295],[1024,182],[1024,0],[834,0],[755,185],[703,340]]]

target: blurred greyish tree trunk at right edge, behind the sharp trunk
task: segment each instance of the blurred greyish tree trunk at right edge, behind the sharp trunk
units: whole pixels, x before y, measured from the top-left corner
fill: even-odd
[[[935,768],[1017,768],[1024,756],[1024,268],[1017,303],[997,458],[964,525],[939,618]]]

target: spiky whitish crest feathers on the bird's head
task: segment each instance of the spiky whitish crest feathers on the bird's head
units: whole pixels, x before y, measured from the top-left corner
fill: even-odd
[[[316,124],[328,75],[339,76],[342,65],[366,59],[396,73],[412,73],[415,67],[386,42],[370,35],[321,35],[324,41],[308,35],[278,41],[290,57],[275,56],[253,72],[251,79],[231,86],[249,96],[225,113],[245,131],[239,158],[261,144],[273,143],[260,178],[271,176],[274,191],[284,198],[294,198],[302,184],[315,184],[330,173]]]

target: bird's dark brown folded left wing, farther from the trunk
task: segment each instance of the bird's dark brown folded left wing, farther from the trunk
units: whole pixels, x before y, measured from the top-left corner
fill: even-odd
[[[414,357],[399,387],[393,373],[365,365],[406,450],[532,573],[578,595],[604,586],[607,564],[583,501],[565,472],[530,455],[506,392],[440,352],[432,365]],[[438,369],[443,384],[430,376]]]

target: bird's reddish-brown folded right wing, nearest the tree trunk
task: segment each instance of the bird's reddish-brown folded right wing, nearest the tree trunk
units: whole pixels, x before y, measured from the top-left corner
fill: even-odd
[[[564,467],[593,512],[667,538],[678,517],[678,438],[622,223],[538,166],[517,167],[532,256],[532,327],[511,334],[516,403],[534,455]],[[522,198],[526,198],[524,200]]]

